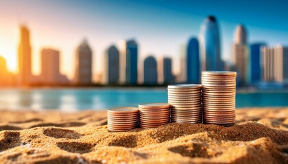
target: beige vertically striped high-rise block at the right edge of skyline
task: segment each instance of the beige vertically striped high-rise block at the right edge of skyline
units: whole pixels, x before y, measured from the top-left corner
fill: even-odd
[[[288,82],[288,47],[261,47],[261,64],[263,81]]]

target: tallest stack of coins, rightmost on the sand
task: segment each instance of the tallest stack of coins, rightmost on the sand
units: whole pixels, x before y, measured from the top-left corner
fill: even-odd
[[[202,72],[204,123],[235,124],[236,72]]]

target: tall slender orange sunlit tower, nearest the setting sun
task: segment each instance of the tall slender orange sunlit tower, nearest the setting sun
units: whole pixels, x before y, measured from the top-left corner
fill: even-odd
[[[29,29],[22,25],[20,27],[20,43],[18,48],[18,83],[19,85],[29,85],[32,77],[31,46]]]

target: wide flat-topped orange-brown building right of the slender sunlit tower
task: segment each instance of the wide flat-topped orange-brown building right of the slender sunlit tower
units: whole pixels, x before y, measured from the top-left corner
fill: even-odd
[[[60,53],[53,49],[41,51],[41,79],[45,85],[57,85],[60,81]]]

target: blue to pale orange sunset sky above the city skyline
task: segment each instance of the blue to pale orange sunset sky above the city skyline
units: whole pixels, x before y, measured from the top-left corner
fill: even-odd
[[[172,57],[180,71],[181,45],[199,36],[208,15],[216,16],[221,57],[229,61],[237,25],[248,31],[248,42],[288,46],[288,1],[77,1],[0,0],[0,55],[16,72],[19,25],[27,25],[32,44],[33,72],[40,73],[40,51],[60,51],[60,71],[73,77],[77,46],[86,38],[93,50],[93,73],[103,71],[106,49],[121,40],[139,44],[139,67],[148,55]]]

